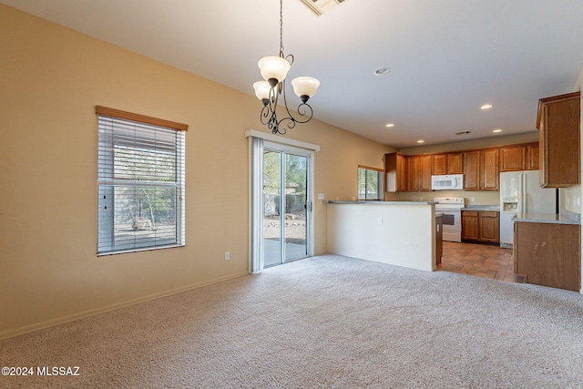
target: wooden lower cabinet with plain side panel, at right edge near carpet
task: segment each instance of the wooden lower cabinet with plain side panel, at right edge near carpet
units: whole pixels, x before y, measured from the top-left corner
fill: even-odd
[[[514,223],[514,272],[527,283],[579,292],[581,226]]]

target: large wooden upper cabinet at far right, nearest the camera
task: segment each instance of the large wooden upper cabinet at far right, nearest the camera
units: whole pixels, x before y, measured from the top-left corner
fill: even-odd
[[[538,101],[540,186],[565,188],[580,183],[580,92]]]

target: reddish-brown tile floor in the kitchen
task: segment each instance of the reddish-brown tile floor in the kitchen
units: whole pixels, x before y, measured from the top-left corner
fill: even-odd
[[[486,244],[444,241],[444,256],[438,271],[452,271],[477,277],[523,282],[513,271],[512,249]]]

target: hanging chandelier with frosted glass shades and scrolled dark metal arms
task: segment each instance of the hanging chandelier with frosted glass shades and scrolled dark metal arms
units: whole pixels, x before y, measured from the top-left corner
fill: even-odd
[[[280,0],[280,55],[264,56],[257,66],[261,70],[263,81],[253,84],[255,96],[261,100],[261,124],[271,129],[273,134],[284,135],[288,129],[294,128],[296,123],[307,123],[313,117],[313,110],[308,105],[308,99],[316,94],[320,87],[320,81],[313,77],[297,77],[292,79],[293,92],[300,97],[302,104],[296,111],[298,117],[294,118],[288,108],[285,97],[285,77],[293,64],[293,56],[283,54],[283,0]],[[278,105],[280,95],[283,96],[283,105],[288,117],[278,120],[275,110]]]

